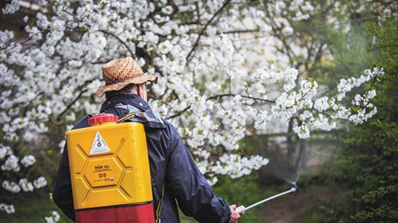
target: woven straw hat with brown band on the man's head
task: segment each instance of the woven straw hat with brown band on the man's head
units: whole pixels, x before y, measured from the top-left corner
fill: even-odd
[[[142,84],[147,81],[158,82],[156,75],[144,75],[141,67],[131,57],[114,59],[102,66],[102,78],[105,85],[98,87],[97,96],[107,91],[118,91],[127,84]]]

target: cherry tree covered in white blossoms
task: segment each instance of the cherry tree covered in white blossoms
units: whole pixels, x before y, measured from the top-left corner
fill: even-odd
[[[35,151],[48,149],[37,143],[54,140],[51,130],[66,131],[83,114],[98,112],[103,99],[94,95],[101,65],[119,57],[131,56],[146,73],[159,76],[149,86],[148,103],[176,126],[211,184],[217,175],[238,178],[268,163],[259,155],[243,156],[239,142],[272,132],[269,123],[290,125],[305,139],[313,130],[361,124],[377,112],[371,103],[375,90],[347,96],[365,82],[377,82],[381,68],[349,74],[336,94],[323,97],[318,83],[301,75],[309,65],[300,68],[298,54],[316,61],[327,51],[322,43],[310,51],[289,39],[298,33],[293,23],[322,10],[310,1],[40,0],[40,5],[46,10],[24,18],[32,21],[26,40],[0,31],[0,175],[10,193],[47,185],[50,176],[27,174],[38,162]],[[3,13],[19,9],[20,2],[12,0]],[[269,59],[264,51],[288,59]],[[62,148],[64,140],[57,143]],[[10,202],[0,202],[0,210],[14,213]]]

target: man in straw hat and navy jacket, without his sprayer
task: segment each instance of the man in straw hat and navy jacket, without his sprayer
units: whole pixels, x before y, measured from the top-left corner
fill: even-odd
[[[185,215],[192,216],[201,223],[237,223],[240,215],[234,211],[236,205],[228,206],[222,198],[215,196],[177,130],[146,103],[145,83],[156,83],[157,76],[144,75],[131,57],[106,63],[102,66],[102,76],[105,86],[98,88],[97,96],[105,94],[106,101],[100,112],[122,118],[138,111],[128,121],[140,122],[145,126],[154,209],[162,201],[160,211],[154,210],[155,217],[159,216],[162,222],[178,223],[178,203]],[[90,117],[91,115],[84,117],[73,129],[88,127],[87,120]],[[53,198],[66,216],[74,220],[66,145],[60,160]]]

